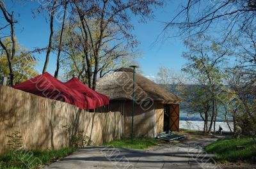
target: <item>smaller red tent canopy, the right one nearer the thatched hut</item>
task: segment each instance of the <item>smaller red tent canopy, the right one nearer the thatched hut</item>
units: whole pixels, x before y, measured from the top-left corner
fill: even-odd
[[[105,96],[104,94],[100,94],[99,92],[93,91],[90,87],[84,85],[80,80],[76,77],[68,80],[65,83],[67,87],[75,89],[76,91],[81,92],[84,96],[88,96],[96,101],[96,107],[102,107],[104,105],[109,104],[109,97]]]

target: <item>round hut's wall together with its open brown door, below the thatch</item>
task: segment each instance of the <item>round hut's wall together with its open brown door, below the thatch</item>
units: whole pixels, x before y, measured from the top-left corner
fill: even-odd
[[[154,105],[148,110],[143,110],[140,105],[135,104],[134,112],[134,136],[154,137],[157,133],[164,131],[164,107],[167,108],[168,126],[172,131],[179,131],[179,104],[164,105],[154,101]],[[124,136],[131,136],[132,101],[111,100],[109,110],[121,112],[124,118]]]

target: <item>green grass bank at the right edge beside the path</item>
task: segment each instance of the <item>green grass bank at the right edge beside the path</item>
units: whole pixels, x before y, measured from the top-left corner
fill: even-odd
[[[236,150],[236,146],[245,146]],[[224,138],[205,147],[205,151],[216,154],[220,163],[253,161],[256,158],[256,142],[252,138]]]

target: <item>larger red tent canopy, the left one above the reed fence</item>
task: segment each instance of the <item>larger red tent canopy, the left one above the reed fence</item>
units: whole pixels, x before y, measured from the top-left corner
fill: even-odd
[[[49,73],[43,73],[35,78],[14,85],[13,88],[44,98],[63,101],[79,108],[88,108],[88,105],[91,104],[90,99],[84,97],[80,92],[70,89]]]

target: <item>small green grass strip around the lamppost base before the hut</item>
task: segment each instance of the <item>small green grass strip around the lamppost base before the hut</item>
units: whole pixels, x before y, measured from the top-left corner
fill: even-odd
[[[124,149],[147,149],[157,145],[156,138],[134,138],[133,143],[131,143],[131,138],[122,138],[122,140],[114,140],[109,143],[104,143],[107,147],[116,147]]]

